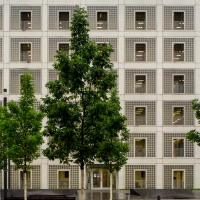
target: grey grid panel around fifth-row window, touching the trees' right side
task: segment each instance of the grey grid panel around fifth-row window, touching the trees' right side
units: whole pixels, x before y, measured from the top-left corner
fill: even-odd
[[[156,134],[155,133],[131,133],[128,143],[130,151],[126,154],[126,157],[134,157],[135,151],[135,139],[146,139],[147,142],[147,157],[156,157]]]

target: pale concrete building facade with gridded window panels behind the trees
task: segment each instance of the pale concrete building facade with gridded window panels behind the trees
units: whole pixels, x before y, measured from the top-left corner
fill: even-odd
[[[122,113],[130,129],[128,162],[113,175],[117,189],[200,188],[200,149],[186,139],[200,131],[191,99],[200,97],[200,0],[0,0],[0,98],[20,96],[28,67],[36,97],[57,78],[56,50],[69,52],[75,6],[88,12],[91,40],[110,42]],[[45,120],[44,120],[45,125]],[[48,138],[41,149],[47,146]],[[79,166],[42,154],[28,173],[32,189],[80,188]],[[108,189],[103,166],[85,166],[85,188]],[[3,187],[3,173],[0,174]],[[23,172],[11,165],[11,189],[23,187]]]

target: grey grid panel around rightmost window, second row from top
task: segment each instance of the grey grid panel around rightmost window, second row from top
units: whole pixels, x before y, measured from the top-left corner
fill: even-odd
[[[173,43],[184,43],[185,62],[194,62],[194,38],[164,38],[164,62],[173,62]]]

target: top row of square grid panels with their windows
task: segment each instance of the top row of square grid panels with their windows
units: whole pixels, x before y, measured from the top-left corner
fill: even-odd
[[[49,6],[49,30],[69,30],[75,6]],[[41,30],[41,6],[11,6],[11,30]],[[0,14],[3,13],[1,6]],[[90,30],[118,30],[117,6],[87,6]],[[164,30],[194,30],[194,6],[164,6]],[[125,6],[125,30],[156,30],[156,6]],[[2,25],[1,25],[2,26]]]

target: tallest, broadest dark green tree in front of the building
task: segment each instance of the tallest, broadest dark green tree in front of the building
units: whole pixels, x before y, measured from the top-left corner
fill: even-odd
[[[77,7],[74,12],[70,27],[72,53],[57,51],[53,66],[59,80],[46,84],[50,94],[41,106],[48,118],[44,135],[51,137],[43,152],[50,160],[58,158],[61,163],[71,161],[80,166],[83,194],[84,165],[94,163],[105,140],[107,94],[116,87],[117,75],[109,59],[112,46],[100,48],[90,41],[86,11]]]

